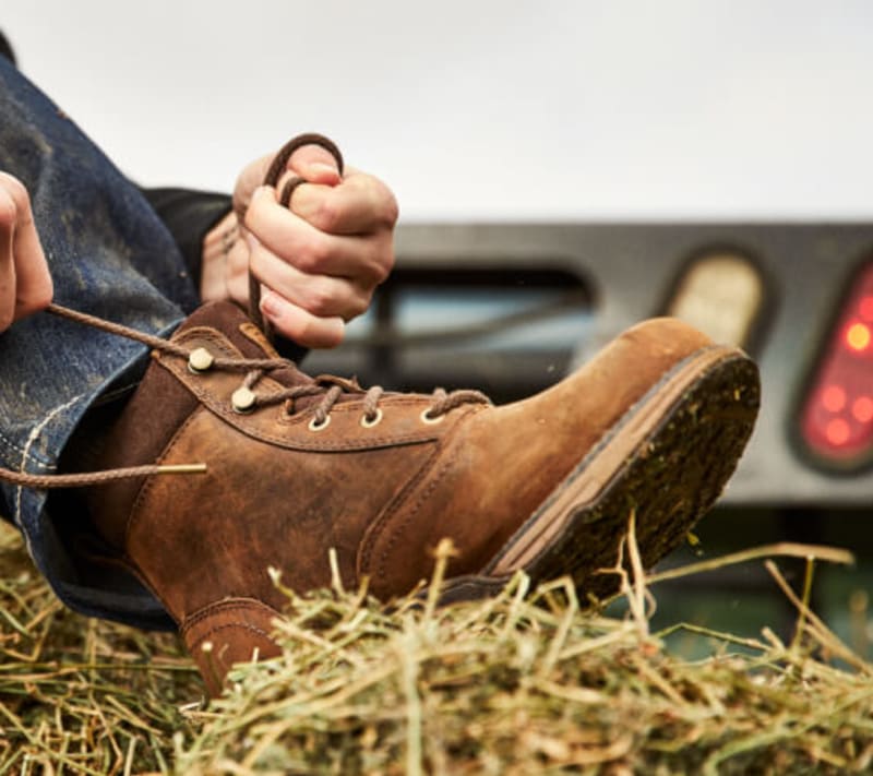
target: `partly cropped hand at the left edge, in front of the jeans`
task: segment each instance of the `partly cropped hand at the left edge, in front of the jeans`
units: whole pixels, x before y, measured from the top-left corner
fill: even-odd
[[[46,308],[52,293],[27,190],[0,172],[0,332]]]

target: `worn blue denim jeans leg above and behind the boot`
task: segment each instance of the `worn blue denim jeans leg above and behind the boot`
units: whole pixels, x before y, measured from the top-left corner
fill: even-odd
[[[0,169],[31,194],[55,300],[153,334],[198,303],[195,278],[164,224],[104,154],[0,57]],[[52,473],[88,408],[135,385],[137,343],[39,313],[0,334],[0,463]],[[81,560],[48,514],[46,493],[0,483],[0,513],[23,533],[39,571],[71,608],[142,626],[170,626],[157,600],[124,573],[83,582]]]

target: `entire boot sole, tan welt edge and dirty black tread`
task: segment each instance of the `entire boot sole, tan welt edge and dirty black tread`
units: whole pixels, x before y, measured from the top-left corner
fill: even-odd
[[[615,593],[619,575],[603,570],[618,563],[631,513],[649,568],[715,503],[758,404],[757,367],[739,350],[715,346],[687,357],[605,434],[480,574],[450,581],[442,599],[493,595],[519,569],[534,584],[570,574],[583,597]]]

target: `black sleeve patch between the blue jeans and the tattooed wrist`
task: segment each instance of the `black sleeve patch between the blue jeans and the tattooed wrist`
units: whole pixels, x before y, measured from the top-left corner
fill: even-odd
[[[230,211],[231,198],[188,189],[141,189],[182,251],[191,277],[199,278],[203,238]]]

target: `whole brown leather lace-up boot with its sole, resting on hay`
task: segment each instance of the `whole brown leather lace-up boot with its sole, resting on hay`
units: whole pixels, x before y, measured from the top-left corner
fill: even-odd
[[[630,512],[650,565],[715,501],[757,405],[753,362],[675,320],[643,323],[550,390],[493,407],[476,392],[311,379],[217,303],[154,353],[100,462],[204,462],[206,474],[87,498],[217,693],[231,664],[277,652],[285,600],[267,569],[297,592],[325,586],[330,548],[346,586],[368,577],[383,600],[429,577],[443,537],[457,549],[450,598],[494,592],[518,569],[614,589],[595,572],[615,563]]]

